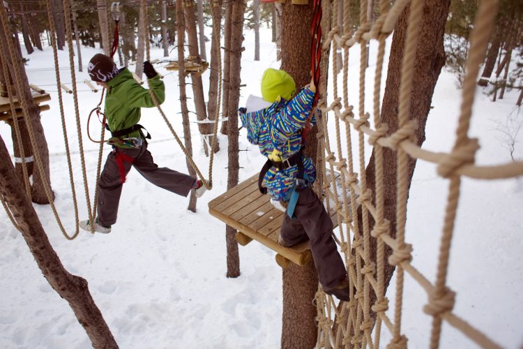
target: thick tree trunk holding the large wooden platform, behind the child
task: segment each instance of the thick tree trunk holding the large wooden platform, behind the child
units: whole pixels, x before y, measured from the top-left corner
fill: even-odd
[[[302,87],[310,81],[311,50],[310,24],[312,1],[307,6],[282,4],[281,12],[282,70],[287,71]],[[307,63],[304,63],[307,62]],[[325,73],[325,72],[324,72]],[[310,147],[317,146],[317,138],[309,135],[306,154],[316,154]],[[282,348],[314,348],[317,338],[316,306],[312,303],[318,289],[318,276],[314,263],[283,269]]]

